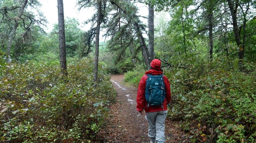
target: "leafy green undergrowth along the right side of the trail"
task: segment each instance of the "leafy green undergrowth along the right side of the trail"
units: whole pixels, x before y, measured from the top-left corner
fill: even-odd
[[[176,66],[164,69],[172,90],[168,117],[181,121],[191,142],[256,143],[255,64],[244,61],[242,72],[228,59],[186,59],[170,59]],[[139,83],[127,76],[139,72],[126,81]]]

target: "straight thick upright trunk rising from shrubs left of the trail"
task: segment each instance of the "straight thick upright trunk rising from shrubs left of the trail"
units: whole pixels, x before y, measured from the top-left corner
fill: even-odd
[[[58,2],[59,41],[60,41],[59,49],[60,49],[61,73],[67,76],[63,0],[57,0],[57,2]]]

